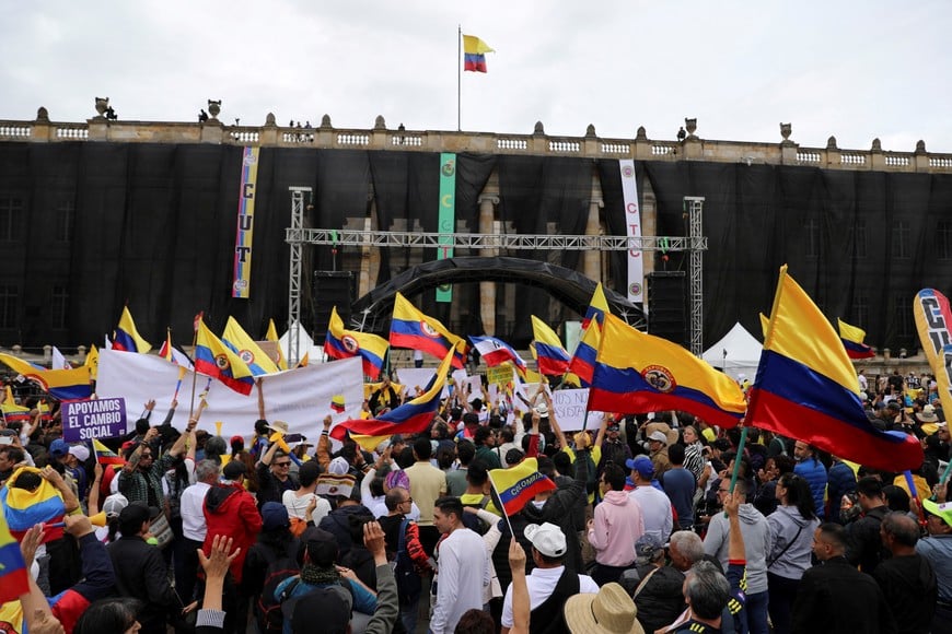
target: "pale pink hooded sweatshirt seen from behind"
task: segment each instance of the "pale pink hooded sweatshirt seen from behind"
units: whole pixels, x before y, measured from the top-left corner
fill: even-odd
[[[589,543],[595,561],[606,566],[628,566],[635,561],[635,542],[645,535],[641,505],[625,491],[608,491],[595,507]]]

